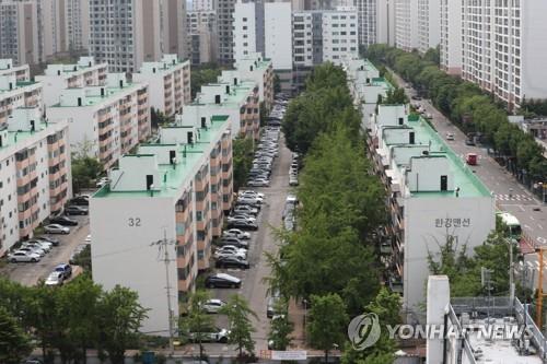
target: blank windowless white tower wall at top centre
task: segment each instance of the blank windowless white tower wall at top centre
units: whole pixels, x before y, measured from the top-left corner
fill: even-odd
[[[290,2],[265,3],[265,56],[275,70],[292,69],[292,14]]]

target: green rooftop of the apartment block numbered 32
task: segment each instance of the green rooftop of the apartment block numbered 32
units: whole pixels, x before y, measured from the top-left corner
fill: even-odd
[[[211,126],[200,128],[199,140],[190,144],[178,145],[178,158],[176,168],[170,164],[159,164],[159,172],[162,176],[161,188],[154,189],[153,197],[173,197],[189,178],[195,177],[195,171],[200,167],[198,163],[201,161],[203,153],[210,153],[211,142],[220,140],[222,132],[225,130],[225,122],[228,116],[213,116],[211,118]],[[143,146],[146,146],[144,144]],[[165,145],[173,146],[173,144],[148,144],[148,145]],[[183,156],[186,153],[186,156]],[[139,153],[135,155],[125,155],[124,157],[139,157]],[[110,191],[109,186],[106,185],[93,195],[93,198],[150,198],[151,192],[142,191]]]

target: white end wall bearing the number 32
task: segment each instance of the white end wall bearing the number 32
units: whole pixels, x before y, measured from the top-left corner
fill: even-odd
[[[167,294],[164,250],[151,246],[164,236],[173,242],[175,231],[173,198],[93,198],[90,220],[93,245],[93,281],[112,290],[116,284],[139,293],[139,302],[150,308],[141,330],[168,333]],[[174,244],[167,246],[170,258],[176,258]],[[130,254],[128,254],[130,253]],[[136,269],[139,267],[139,269]],[[173,315],[178,317],[176,302],[177,269],[168,265]]]

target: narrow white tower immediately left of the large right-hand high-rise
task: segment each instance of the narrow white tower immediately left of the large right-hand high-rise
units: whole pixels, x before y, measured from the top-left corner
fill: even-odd
[[[454,75],[462,74],[462,3],[441,0],[441,69]]]

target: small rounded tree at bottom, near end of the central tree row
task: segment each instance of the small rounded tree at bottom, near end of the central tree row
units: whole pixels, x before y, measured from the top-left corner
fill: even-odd
[[[328,363],[328,352],[346,341],[346,328],[349,319],[346,305],[336,293],[324,296],[312,296],[307,324],[310,344],[325,352],[325,363]]]

